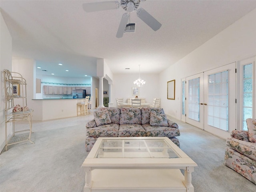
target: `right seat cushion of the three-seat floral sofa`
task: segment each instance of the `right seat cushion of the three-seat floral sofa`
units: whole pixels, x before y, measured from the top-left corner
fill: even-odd
[[[147,137],[176,137],[180,136],[180,130],[174,127],[151,126],[143,124],[142,127],[146,130]]]

